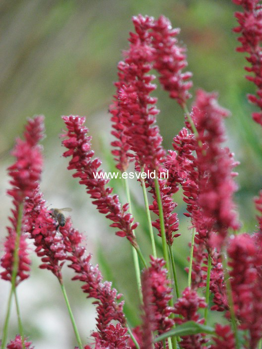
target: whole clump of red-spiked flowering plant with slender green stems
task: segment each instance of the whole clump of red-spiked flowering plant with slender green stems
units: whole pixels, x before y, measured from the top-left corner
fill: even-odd
[[[248,99],[262,109],[262,5],[258,0],[233,2],[242,8],[236,13],[239,26],[234,29],[240,35],[237,51],[247,53],[250,65],[246,70],[251,74],[247,78],[257,88],[256,95]],[[104,175],[85,117],[62,117],[62,145],[67,169],[83,184],[87,199],[108,219],[115,234],[130,244],[140,322],[131,325],[131,315],[124,307],[125,294],[104,280],[99,266],[92,263],[83,233],[70,217],[47,204],[41,192],[43,156],[39,145],[44,117],[35,116],[27,120],[23,139],[16,139],[11,153],[14,163],[7,169],[12,208],[0,276],[10,283],[10,293],[2,321],[1,349],[33,348],[18,301],[18,286],[30,277],[32,251],[28,242],[41,260],[40,269],[51,271],[60,285],[75,348],[262,347],[262,192],[254,199],[258,227],[243,233],[234,202],[239,163],[224,145],[224,120],[230,112],[219,105],[217,93],[198,88],[194,95],[191,91],[193,75],[187,71],[186,47],[178,39],[180,30],[172,28],[168,18],[139,14],[132,21],[134,31],[118,63],[116,92],[109,108],[114,137],[111,151],[119,178],[123,175],[126,199],[121,199],[113,181]],[[184,127],[173,135],[168,150],[156,124],[156,79],[185,116]],[[261,111],[254,112],[253,118],[262,125]],[[132,210],[137,201],[124,176],[130,166],[141,174],[136,176],[144,198],[139,217],[137,209]],[[152,172],[154,178],[146,175]],[[185,202],[184,219],[192,234],[188,256],[182,256],[187,263],[186,287],[176,271],[184,233],[179,222],[179,195]],[[139,223],[149,236],[147,248],[140,243],[143,229],[139,230]],[[70,308],[63,280],[67,267],[74,272],[72,281],[80,281],[81,290],[95,306],[95,330],[86,334],[90,336],[88,343],[86,337],[81,338]],[[9,338],[13,298],[19,334]]]

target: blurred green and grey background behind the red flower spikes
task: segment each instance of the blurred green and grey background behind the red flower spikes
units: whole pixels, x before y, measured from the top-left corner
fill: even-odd
[[[131,250],[126,239],[114,235],[107,220],[96,212],[83,186],[71,178],[62,158],[61,115],[86,116],[96,154],[103,159],[103,169],[112,169],[110,155],[110,115],[108,106],[115,92],[117,62],[128,48],[131,16],[141,13],[169,17],[181,28],[179,39],[188,47],[188,69],[193,72],[194,88],[219,92],[219,103],[232,112],[226,120],[227,145],[241,162],[237,168],[239,191],[235,196],[243,223],[242,231],[253,232],[256,226],[253,197],[262,183],[261,129],[251,119],[255,107],[248,104],[247,93],[254,92],[244,79],[244,55],[235,52],[237,36],[236,6],[229,0],[1,0],[0,1],[0,238],[3,242],[11,200],[6,167],[12,163],[9,150],[21,135],[27,116],[44,114],[46,134],[43,141],[45,169],[41,189],[48,204],[73,209],[76,228],[86,235],[87,250],[94,254],[106,278],[123,292],[131,325],[139,311]],[[161,110],[157,118],[163,144],[171,148],[173,137],[183,127],[184,116],[167,93],[155,92]],[[190,102],[191,103],[191,102]],[[189,107],[190,107],[189,103]],[[125,201],[122,183],[115,181],[116,192]],[[150,253],[141,190],[130,183],[133,201],[137,202],[135,219],[140,226],[137,236],[144,254]],[[175,198],[181,218],[180,236],[174,250],[178,262],[181,290],[186,285],[183,272],[187,265],[189,221],[183,218],[185,206],[178,193]],[[133,207],[135,207],[133,203]],[[2,246],[2,244],[1,244]],[[32,247],[33,249],[33,247]],[[2,251],[2,248],[1,248]],[[53,275],[39,271],[33,259],[32,276],[18,289],[25,332],[36,348],[73,348],[75,342],[59,285]],[[79,285],[66,286],[84,342],[95,328],[95,312]],[[0,281],[0,330],[5,313],[9,285]],[[66,329],[66,331],[65,331]],[[17,332],[14,311],[9,338]]]

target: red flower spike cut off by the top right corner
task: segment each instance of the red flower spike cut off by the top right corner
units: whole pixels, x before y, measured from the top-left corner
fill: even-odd
[[[239,26],[234,28],[241,36],[238,38],[241,46],[238,52],[246,52],[247,61],[251,66],[245,69],[254,75],[247,75],[246,78],[258,87],[257,96],[249,95],[249,101],[262,109],[262,4],[259,0],[233,0],[237,5],[243,7],[244,12],[236,12],[235,16]],[[262,125],[262,111],[253,113],[253,119]]]

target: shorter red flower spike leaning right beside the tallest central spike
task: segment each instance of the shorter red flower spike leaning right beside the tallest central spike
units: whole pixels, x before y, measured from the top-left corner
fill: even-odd
[[[152,27],[152,45],[155,49],[154,68],[160,73],[159,81],[171,98],[176,99],[182,107],[191,97],[191,72],[182,72],[188,65],[186,48],[178,45],[176,36],[180,29],[173,29],[168,18],[160,16]]]

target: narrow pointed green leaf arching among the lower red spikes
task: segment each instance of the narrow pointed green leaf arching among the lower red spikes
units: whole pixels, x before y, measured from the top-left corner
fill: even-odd
[[[198,333],[208,333],[208,334],[212,335],[215,333],[215,330],[210,326],[197,324],[195,321],[188,321],[182,325],[178,325],[173,330],[170,330],[170,331],[163,333],[162,335],[156,337],[154,339],[154,343],[163,341],[164,339],[166,339],[168,337],[189,336],[189,335],[196,335]]]

